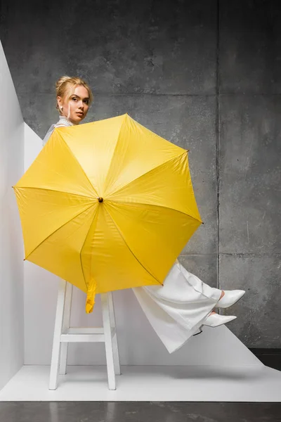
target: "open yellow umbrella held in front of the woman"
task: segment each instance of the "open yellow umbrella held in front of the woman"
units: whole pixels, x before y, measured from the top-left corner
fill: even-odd
[[[25,260],[87,294],[162,284],[202,223],[188,150],[128,114],[53,131],[13,186]]]

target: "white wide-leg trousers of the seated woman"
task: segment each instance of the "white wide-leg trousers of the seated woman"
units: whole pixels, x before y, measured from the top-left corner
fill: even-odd
[[[169,353],[186,343],[221,297],[221,290],[203,283],[178,261],[163,286],[135,287],[133,292]]]

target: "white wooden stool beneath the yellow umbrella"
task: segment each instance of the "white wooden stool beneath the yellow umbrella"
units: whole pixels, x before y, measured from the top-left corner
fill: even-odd
[[[109,390],[116,390],[115,375],[120,375],[121,372],[112,292],[100,294],[103,311],[102,328],[71,328],[72,290],[72,284],[60,279],[48,389],[56,390],[58,388],[58,374],[65,375],[66,373],[68,343],[98,341],[105,343],[108,388]]]

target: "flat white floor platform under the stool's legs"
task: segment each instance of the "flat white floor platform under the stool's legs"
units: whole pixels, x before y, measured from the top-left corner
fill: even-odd
[[[48,366],[23,366],[0,401],[281,402],[281,373],[267,366],[122,366],[117,390],[105,366],[69,366],[48,390]]]

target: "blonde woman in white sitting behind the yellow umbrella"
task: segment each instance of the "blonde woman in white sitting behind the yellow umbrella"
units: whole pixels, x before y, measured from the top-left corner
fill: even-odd
[[[79,124],[86,117],[93,94],[79,77],[63,76],[56,82],[56,108],[60,118],[52,124],[43,145],[55,127]],[[133,288],[150,324],[171,353],[178,350],[201,327],[216,327],[236,316],[223,316],[215,307],[229,307],[242,298],[244,290],[219,290],[203,283],[176,260],[163,286]]]

